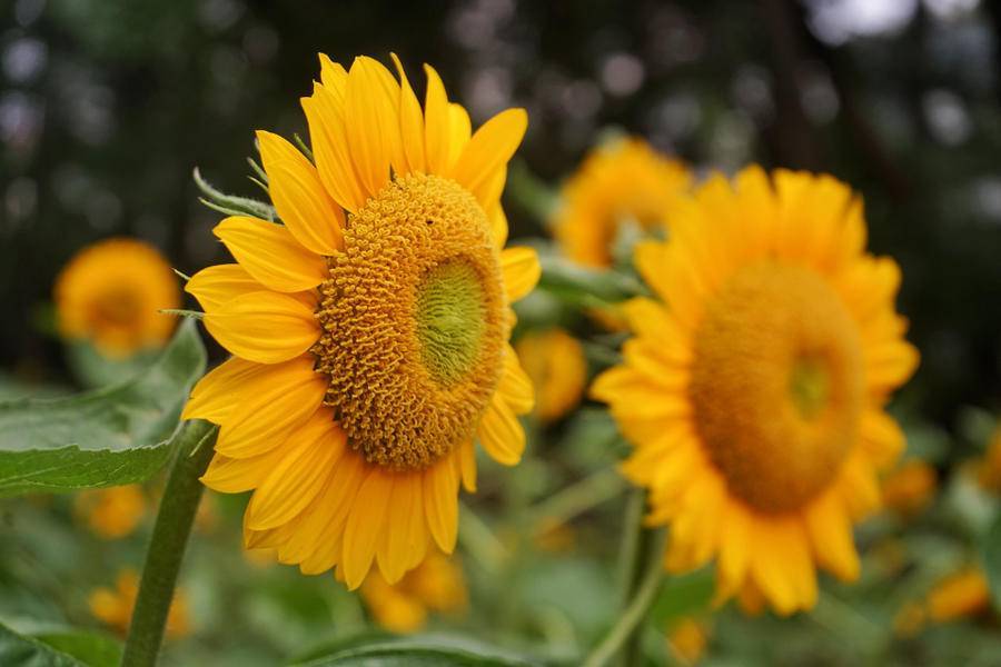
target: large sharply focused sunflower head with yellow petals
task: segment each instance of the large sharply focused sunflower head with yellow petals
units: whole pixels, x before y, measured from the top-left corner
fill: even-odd
[[[248,548],[337,567],[351,589],[373,563],[398,581],[432,540],[452,552],[474,441],[517,464],[516,415],[533,407],[508,338],[539,268],[504,249],[499,203],[527,116],[470,133],[433,68],[422,108],[394,60],[398,81],[370,58],[347,71],[320,56],[303,99],[315,166],[257,133],[284,223],[225,219],[215,233],[237,263],[187,286],[234,355],[185,411],[221,426],[204,482],[254,489]]]

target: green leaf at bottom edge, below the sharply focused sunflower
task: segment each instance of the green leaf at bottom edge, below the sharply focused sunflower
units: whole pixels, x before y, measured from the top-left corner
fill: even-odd
[[[333,653],[298,663],[303,667],[529,667],[544,665],[516,651],[500,649],[473,639],[447,635],[425,635],[371,640],[361,635]]]

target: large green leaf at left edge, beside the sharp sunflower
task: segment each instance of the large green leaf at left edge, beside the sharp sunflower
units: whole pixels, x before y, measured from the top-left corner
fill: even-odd
[[[195,323],[127,382],[54,400],[0,402],[0,496],[141,481],[170,452],[188,392],[205,371]]]

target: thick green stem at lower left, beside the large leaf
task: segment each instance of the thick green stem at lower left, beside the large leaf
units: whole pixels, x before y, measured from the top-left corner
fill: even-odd
[[[177,574],[201,500],[198,478],[212,458],[216,432],[216,427],[207,421],[188,421],[178,435],[177,452],[146,551],[139,595],[121,657],[125,667],[151,667],[157,663]]]

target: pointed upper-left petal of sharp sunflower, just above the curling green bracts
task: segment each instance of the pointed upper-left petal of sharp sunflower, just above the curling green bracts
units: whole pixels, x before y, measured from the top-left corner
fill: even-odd
[[[344,242],[344,210],[327,195],[316,168],[278,135],[258,131],[257,141],[268,191],[283,222],[307,249],[334,255]]]

